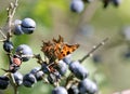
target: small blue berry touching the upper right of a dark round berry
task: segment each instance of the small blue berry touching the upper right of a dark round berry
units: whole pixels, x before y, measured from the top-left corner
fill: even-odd
[[[30,73],[32,73],[36,77],[37,81],[42,80],[42,77],[44,75],[43,71],[41,71],[39,67],[31,69]]]

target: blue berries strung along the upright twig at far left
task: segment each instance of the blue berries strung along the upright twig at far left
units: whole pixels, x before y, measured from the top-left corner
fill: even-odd
[[[14,23],[12,23],[11,35],[29,35],[34,32],[35,28],[36,23],[31,18],[25,18],[23,21],[16,19]],[[26,83],[27,76],[23,76],[21,72],[18,72],[18,69],[21,68],[23,62],[28,62],[32,56],[32,50],[27,44],[18,45],[13,52],[14,44],[11,41],[12,36],[9,36],[8,32],[6,36],[4,36],[4,39],[2,40],[3,50],[5,51],[9,57],[9,69],[2,68],[2,70],[5,71],[5,73],[0,77],[1,90],[6,89],[10,82],[11,84],[15,84],[15,88],[22,85],[23,83]]]

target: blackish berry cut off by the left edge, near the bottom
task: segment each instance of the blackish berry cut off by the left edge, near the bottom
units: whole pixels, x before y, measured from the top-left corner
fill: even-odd
[[[0,90],[5,90],[9,85],[9,78],[5,76],[0,77]]]

